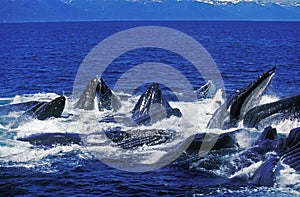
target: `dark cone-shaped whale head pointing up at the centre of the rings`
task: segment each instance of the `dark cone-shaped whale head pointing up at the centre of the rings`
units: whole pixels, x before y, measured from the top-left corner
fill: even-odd
[[[139,98],[131,117],[137,124],[149,124],[171,116],[181,117],[182,114],[163,97],[159,84],[152,83]]]

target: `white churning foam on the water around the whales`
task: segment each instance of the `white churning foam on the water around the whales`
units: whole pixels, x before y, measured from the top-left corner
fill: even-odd
[[[21,95],[14,97],[13,103],[26,102],[32,100],[45,100],[49,101],[56,98],[58,95],[53,93],[40,93],[33,95]],[[271,102],[273,97],[265,97],[267,102]],[[122,100],[122,108],[118,113],[128,114],[130,110],[133,109],[135,103],[138,100],[138,96],[129,98],[128,97]],[[115,144],[111,143],[103,131],[109,128],[120,126],[118,123],[99,123],[106,115],[110,115],[111,112],[103,111],[99,112],[98,110],[85,111],[73,109],[73,103],[70,102],[70,99],[67,99],[66,107],[63,112],[64,116],[70,115],[68,118],[50,118],[48,120],[30,120],[23,122],[15,130],[8,130],[5,132],[16,132],[14,139],[27,137],[32,134],[40,133],[79,133],[87,135],[85,138],[85,145],[77,146],[57,146],[50,149],[38,149],[32,148],[29,143],[19,142],[17,140],[12,140],[6,145],[0,146],[0,161],[4,162],[15,162],[15,165],[21,165],[22,162],[29,162],[28,166],[32,163],[38,163],[43,161],[46,157],[57,155],[60,153],[68,153],[72,151],[79,150],[80,156],[84,158],[97,158],[97,159],[132,159],[132,162],[137,162],[140,164],[150,165],[152,163],[158,162],[164,156],[170,153],[170,150],[176,148],[178,144],[184,141],[187,137],[195,133],[210,132],[221,134],[224,132],[229,132],[232,130],[220,130],[220,129],[206,129],[206,125],[210,120],[214,111],[223,103],[223,97],[221,92],[217,93],[213,99],[205,99],[199,102],[170,102],[170,105],[174,108],[179,108],[182,112],[182,117],[170,117],[164,119],[160,122],[157,122],[151,126],[140,126],[138,128],[125,127],[122,126],[122,129],[130,131],[132,129],[166,129],[176,131],[174,138],[165,144],[155,145],[155,146],[143,146],[133,150],[124,150],[117,147]],[[8,117],[17,118],[20,113],[10,113]],[[289,125],[289,126],[287,126]],[[0,129],[4,129],[1,127]],[[291,128],[300,126],[298,122],[290,121],[282,123],[282,125],[276,125],[279,127],[280,132],[288,133]],[[236,129],[236,128],[235,128]],[[97,134],[99,133],[99,135]],[[102,134],[100,134],[102,133]],[[241,147],[248,147],[251,143],[251,138],[245,133],[237,135],[238,143]],[[100,144],[100,146],[99,146]],[[35,165],[35,164],[33,164]],[[234,176],[237,176],[242,173],[249,174],[257,168],[259,163],[256,165],[250,166],[249,168],[243,169],[240,172],[237,172]]]

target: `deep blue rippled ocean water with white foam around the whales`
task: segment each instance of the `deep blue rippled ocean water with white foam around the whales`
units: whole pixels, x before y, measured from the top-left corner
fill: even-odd
[[[163,26],[179,30],[200,42],[218,66],[225,83],[226,95],[247,86],[262,72],[276,66],[276,74],[262,103],[299,94],[300,85],[300,23],[299,22],[222,22],[222,21],[148,21],[148,22],[61,22],[0,24],[0,105],[31,100],[67,97],[64,117],[46,121],[26,121],[16,129],[10,126],[22,112],[0,117],[0,195],[60,196],[297,196],[300,175],[283,166],[276,175],[274,187],[254,187],[243,181],[232,182],[222,172],[207,174],[176,164],[146,172],[128,172],[107,165],[109,159],[132,160],[134,169],[152,163],[168,154],[186,137],[207,131],[206,124],[217,108],[215,101],[177,102],[166,94],[172,106],[183,117],[171,117],[144,129],[163,127],[176,130],[176,138],[163,145],[122,151],[103,145],[101,133],[115,126],[99,123],[108,112],[73,109],[74,80],[83,59],[99,42],[120,31],[140,26]],[[145,48],[130,51],[116,58],[103,77],[111,88],[118,78],[134,65],[161,62],[177,68],[197,89],[205,80],[196,74],[190,62],[163,49]],[[95,73],[96,75],[97,73]],[[146,73],[145,73],[146,74]],[[176,82],[175,82],[176,83]],[[178,85],[177,91],[184,87]],[[145,86],[137,87],[135,95],[118,92],[124,100],[121,112],[132,109]],[[163,89],[167,91],[166,89]],[[198,114],[191,114],[197,108]],[[299,127],[297,120],[278,120],[272,124],[282,135]],[[252,129],[254,140],[262,129]],[[89,134],[86,146],[55,146],[50,149],[32,147],[16,140],[38,133],[74,132]],[[227,131],[214,131],[227,132]],[[96,134],[95,134],[96,133]],[[241,141],[245,147],[246,140]],[[96,144],[96,145],[95,145]],[[102,145],[99,145],[102,144]],[[133,157],[132,155],[136,155]],[[108,162],[109,163],[109,162]],[[125,165],[125,164],[124,164]],[[130,168],[130,166],[126,166]],[[253,171],[254,169],[248,169]],[[219,175],[219,176],[217,176]],[[287,178],[288,177],[288,178]]]

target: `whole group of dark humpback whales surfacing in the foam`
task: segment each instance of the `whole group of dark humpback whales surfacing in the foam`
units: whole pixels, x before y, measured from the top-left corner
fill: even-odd
[[[207,128],[228,129],[237,126],[240,121],[246,127],[256,127],[265,119],[272,119],[274,115],[283,114],[283,117],[299,116],[300,95],[291,96],[279,101],[264,105],[256,104],[263,95],[267,86],[275,73],[275,68],[268,70],[250,83],[246,88],[237,90],[224,104],[222,104],[213,114]],[[198,91],[198,94],[205,95],[212,88],[208,82]],[[83,110],[95,109],[95,98],[97,99],[99,111],[118,111],[121,102],[117,95],[112,92],[102,78],[92,79],[80,99],[75,104],[75,108]],[[29,116],[45,120],[51,117],[60,117],[65,106],[65,97],[58,97],[50,102],[27,102],[7,106],[1,106],[1,113],[11,111],[25,111],[18,118],[13,128],[18,126],[18,122]],[[100,122],[118,122],[126,126],[151,125],[164,118],[171,116],[181,117],[182,113],[177,108],[172,108],[162,95],[159,84],[152,83],[140,96],[137,104],[128,117],[109,116]],[[157,145],[168,142],[172,139],[175,131],[154,129],[140,130],[134,127],[130,132],[123,131],[120,127],[104,131],[105,136],[114,144],[123,149],[132,149],[142,145]],[[182,156],[175,163],[185,161],[185,164],[192,162],[194,158],[202,169],[227,169],[232,179],[239,170],[250,165],[261,162],[255,173],[247,177],[247,182],[258,186],[272,186],[274,184],[275,169],[278,162],[289,165],[295,170],[300,170],[300,128],[290,131],[286,138],[279,138],[275,128],[268,126],[264,129],[258,139],[252,143],[251,147],[243,150],[237,140],[240,134],[249,135],[246,129],[238,129],[226,132],[221,135],[211,133],[198,133],[178,144],[178,147],[185,147]],[[250,137],[250,136],[249,136]],[[29,142],[35,146],[52,147],[56,144],[80,144],[84,145],[84,135],[78,133],[42,133],[35,134],[17,140]],[[210,147],[210,152],[205,159],[199,156],[199,150],[203,142],[215,142]],[[180,149],[180,148],[179,148]],[[183,150],[183,149],[180,149]],[[225,161],[223,156],[233,152],[235,159],[230,162]],[[209,162],[207,161],[209,160]],[[188,162],[186,162],[188,161]],[[202,162],[203,161],[203,162]],[[224,167],[225,166],[225,167]],[[241,178],[241,177],[238,177]]]

